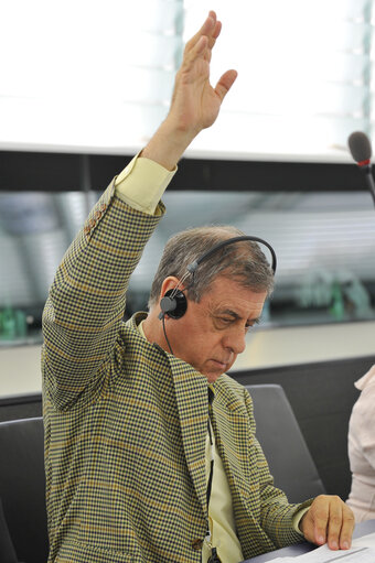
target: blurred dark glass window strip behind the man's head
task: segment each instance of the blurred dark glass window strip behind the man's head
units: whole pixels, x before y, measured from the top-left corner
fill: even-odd
[[[98,197],[95,192],[0,193],[0,342],[40,339],[55,270]],[[163,199],[168,215],[133,272],[127,316],[147,307],[171,235],[231,224],[268,240],[278,257],[262,326],[375,318],[375,221],[368,194],[188,191]]]

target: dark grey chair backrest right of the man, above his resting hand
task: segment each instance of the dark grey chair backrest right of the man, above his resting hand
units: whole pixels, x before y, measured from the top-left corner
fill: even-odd
[[[266,455],[275,485],[289,502],[301,502],[325,492],[317,466],[282,387],[246,386],[254,403],[256,435]]]

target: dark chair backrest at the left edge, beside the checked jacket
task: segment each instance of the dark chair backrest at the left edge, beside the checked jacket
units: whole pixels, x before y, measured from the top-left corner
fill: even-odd
[[[0,423],[0,498],[19,561],[49,556],[43,420]]]

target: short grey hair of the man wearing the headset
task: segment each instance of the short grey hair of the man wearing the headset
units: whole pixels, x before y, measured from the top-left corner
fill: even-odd
[[[188,266],[222,240],[245,234],[232,226],[196,227],[183,230],[171,237],[164,248],[158,271],[154,275],[149,299],[149,308],[159,302],[161,286],[165,278],[174,275],[180,281],[186,277]],[[188,297],[200,302],[218,275],[234,279],[256,293],[274,289],[272,270],[257,242],[245,240],[228,245],[204,260],[196,269],[194,282],[189,274],[184,288]]]

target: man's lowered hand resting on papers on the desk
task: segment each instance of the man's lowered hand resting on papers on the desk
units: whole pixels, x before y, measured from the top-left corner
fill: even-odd
[[[303,515],[299,527],[311,543],[328,543],[331,550],[349,550],[354,524],[352,510],[340,497],[320,495]]]

